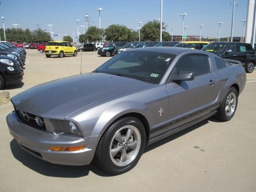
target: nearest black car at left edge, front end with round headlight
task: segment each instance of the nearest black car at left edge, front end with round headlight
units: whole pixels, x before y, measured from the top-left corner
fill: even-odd
[[[3,89],[4,85],[20,83],[23,74],[19,61],[0,55],[0,90]]]

